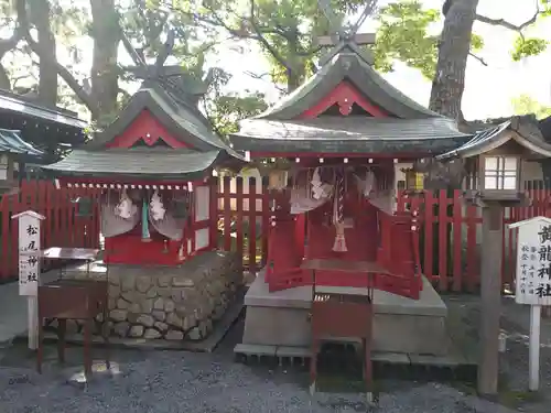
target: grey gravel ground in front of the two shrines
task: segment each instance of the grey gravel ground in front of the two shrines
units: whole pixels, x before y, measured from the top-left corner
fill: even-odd
[[[475,329],[479,317],[477,298],[460,302],[462,317]],[[445,384],[386,380],[378,383],[381,395],[376,411],[549,413],[549,401],[532,400],[526,394],[526,314],[518,306],[504,306],[504,329],[510,339],[501,363],[503,382],[506,383],[501,402],[505,400],[512,409]],[[544,323],[543,327],[542,341],[545,344],[551,340],[551,324]],[[87,385],[77,383],[73,377],[82,371],[80,348],[68,349],[67,367],[62,369],[56,362],[55,348],[48,346],[43,374],[35,372],[34,356],[26,354],[24,344],[4,349],[3,359],[0,349],[0,412],[323,413],[367,410],[358,394],[320,392],[311,398],[306,391],[307,373],[303,371],[234,362],[231,349],[240,335],[238,326],[217,352],[210,355],[115,350],[111,372],[96,372]],[[100,356],[96,352],[96,357]],[[543,346],[542,393],[550,393],[550,360],[551,346]]]

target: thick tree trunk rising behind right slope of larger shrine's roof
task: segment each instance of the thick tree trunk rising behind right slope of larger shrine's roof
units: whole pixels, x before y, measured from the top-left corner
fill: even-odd
[[[465,69],[478,0],[452,0],[446,6],[429,107],[460,121]]]

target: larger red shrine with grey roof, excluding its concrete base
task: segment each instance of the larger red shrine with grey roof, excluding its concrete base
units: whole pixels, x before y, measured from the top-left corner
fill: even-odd
[[[242,121],[231,137],[246,157],[285,157],[292,165],[270,233],[267,282],[271,291],[300,285],[303,258],[367,260],[395,275],[379,278],[378,287],[417,298],[417,235],[411,217],[393,214],[395,195],[411,188],[414,163],[469,135],[393,88],[355,45],[343,43],[324,61],[304,85]],[[361,280],[324,271],[318,282],[360,286]]]

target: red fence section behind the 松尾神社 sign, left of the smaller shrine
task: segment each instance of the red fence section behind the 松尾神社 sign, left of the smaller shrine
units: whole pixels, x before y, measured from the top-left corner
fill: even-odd
[[[96,210],[90,217],[77,217],[78,196],[97,197],[96,189],[56,189],[51,181],[23,180],[19,194],[0,199],[0,282],[18,274],[18,222],[11,217],[32,209],[46,217],[41,227],[42,247],[99,246],[99,222]],[[43,268],[47,270],[47,268]]]

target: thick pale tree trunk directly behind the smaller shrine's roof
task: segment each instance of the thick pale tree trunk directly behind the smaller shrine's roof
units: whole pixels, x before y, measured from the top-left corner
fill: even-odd
[[[97,106],[91,118],[99,124],[105,124],[112,120],[111,117],[117,111],[120,25],[115,0],[90,0],[90,6],[94,39],[91,97]]]

